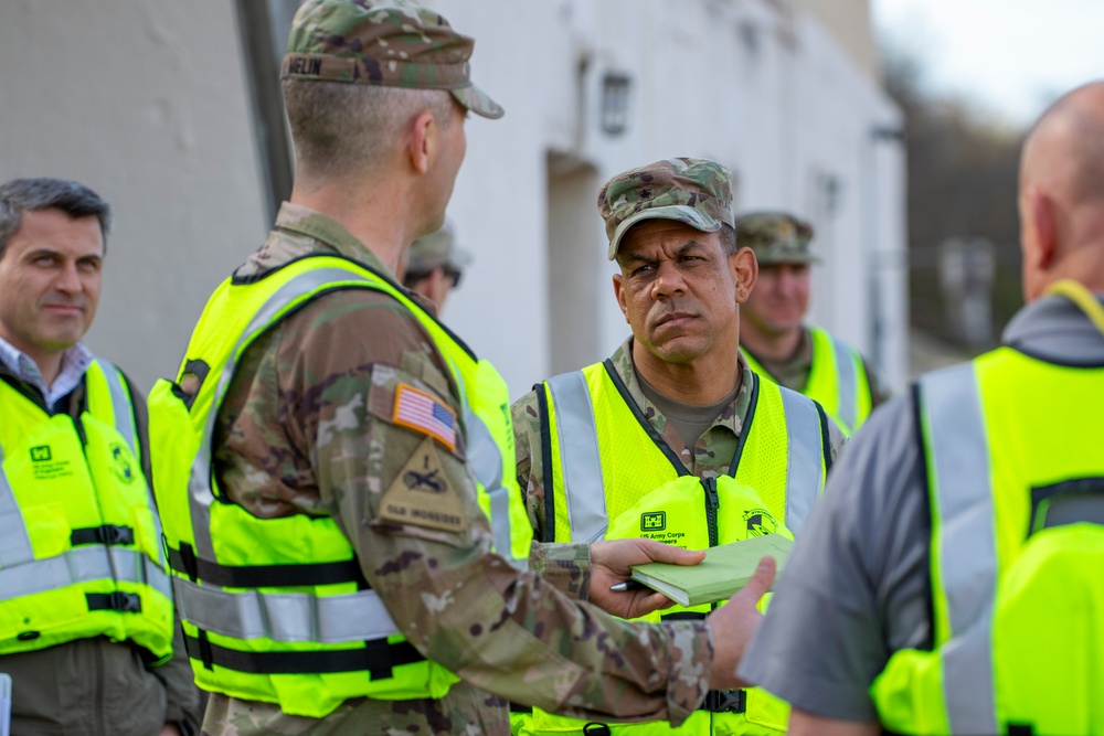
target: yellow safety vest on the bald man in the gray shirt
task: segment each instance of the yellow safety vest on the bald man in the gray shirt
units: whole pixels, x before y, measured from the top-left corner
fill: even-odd
[[[1082,287],[1057,287],[1104,332]],[[932,504],[932,651],[871,686],[903,734],[1104,734],[1104,365],[999,348],[919,383]],[[1063,518],[1065,516],[1065,518]]]

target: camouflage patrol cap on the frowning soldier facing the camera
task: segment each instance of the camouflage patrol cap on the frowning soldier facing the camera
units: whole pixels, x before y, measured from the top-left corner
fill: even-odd
[[[607,181],[598,192],[609,259],[625,233],[644,220],[677,220],[703,233],[732,225],[732,174],[708,159],[665,159]]]

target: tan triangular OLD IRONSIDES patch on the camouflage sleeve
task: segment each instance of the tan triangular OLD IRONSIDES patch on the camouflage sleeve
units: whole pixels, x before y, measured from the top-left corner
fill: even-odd
[[[426,437],[391,487],[380,499],[379,518],[446,532],[463,532],[468,527],[457,489],[453,487],[433,440]]]

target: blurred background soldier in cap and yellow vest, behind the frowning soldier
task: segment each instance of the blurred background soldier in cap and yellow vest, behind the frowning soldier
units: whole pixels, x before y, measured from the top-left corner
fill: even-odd
[[[740,310],[740,346],[752,370],[816,399],[848,436],[889,392],[854,348],[804,324],[809,309],[813,226],[785,212],[736,217],[736,241],[755,252],[760,276]]]

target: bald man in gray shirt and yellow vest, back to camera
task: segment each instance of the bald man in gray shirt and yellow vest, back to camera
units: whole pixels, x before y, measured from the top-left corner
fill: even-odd
[[[1102,141],[1104,82],[1043,114],[1004,346],[922,376],[835,470],[741,669],[790,734],[1104,734]]]

